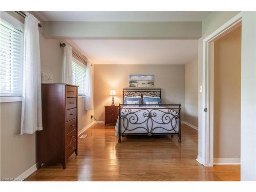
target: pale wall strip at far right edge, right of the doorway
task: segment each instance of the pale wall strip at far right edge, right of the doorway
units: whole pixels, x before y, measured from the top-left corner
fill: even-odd
[[[256,181],[256,12],[242,12],[241,180]]]

